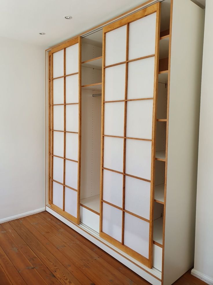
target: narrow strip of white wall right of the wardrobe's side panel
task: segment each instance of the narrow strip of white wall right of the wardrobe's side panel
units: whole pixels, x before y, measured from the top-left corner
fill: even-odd
[[[193,275],[206,280],[209,284],[213,284],[212,12],[213,1],[206,0],[198,155],[195,259],[194,269],[192,270]]]

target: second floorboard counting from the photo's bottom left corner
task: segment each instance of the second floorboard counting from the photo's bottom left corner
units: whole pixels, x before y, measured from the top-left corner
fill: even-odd
[[[0,264],[12,282],[12,284],[17,285],[26,285],[26,282],[23,280],[21,275],[18,273],[8,256],[3,251],[2,247],[0,246]]]

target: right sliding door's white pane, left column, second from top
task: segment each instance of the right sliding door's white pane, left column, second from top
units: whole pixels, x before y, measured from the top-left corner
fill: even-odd
[[[105,101],[124,100],[126,64],[105,68]]]

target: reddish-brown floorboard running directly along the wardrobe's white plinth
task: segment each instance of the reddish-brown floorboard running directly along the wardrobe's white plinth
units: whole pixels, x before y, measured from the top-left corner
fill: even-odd
[[[91,241],[85,239],[82,235],[78,234],[76,231],[73,229],[69,228],[66,224],[63,222],[59,221],[56,217],[52,216],[48,212],[42,212],[39,214],[39,216],[43,217],[47,222],[49,222],[55,229],[59,231],[60,234],[63,235],[64,237],[71,239],[74,239],[74,242],[77,243],[79,242],[79,245],[81,248],[84,250],[90,250],[93,253],[96,254],[95,258],[101,257],[105,261],[105,264],[109,264],[111,267],[114,267],[117,269],[116,273],[120,273],[123,275],[123,279],[127,277],[129,280],[131,280],[133,283],[132,284],[138,284],[138,285],[144,285],[144,284],[150,284],[146,280],[142,279],[139,275],[134,273],[132,270],[129,270],[126,266],[121,264],[119,261],[111,257],[108,253],[104,252],[97,246],[95,246]],[[99,254],[98,254],[98,253]],[[102,254],[102,256],[101,256]],[[102,258],[104,257],[104,258]],[[93,257],[94,258],[94,257]]]

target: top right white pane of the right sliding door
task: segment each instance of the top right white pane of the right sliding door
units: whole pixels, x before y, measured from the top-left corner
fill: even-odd
[[[155,54],[156,12],[129,24],[129,60]]]

